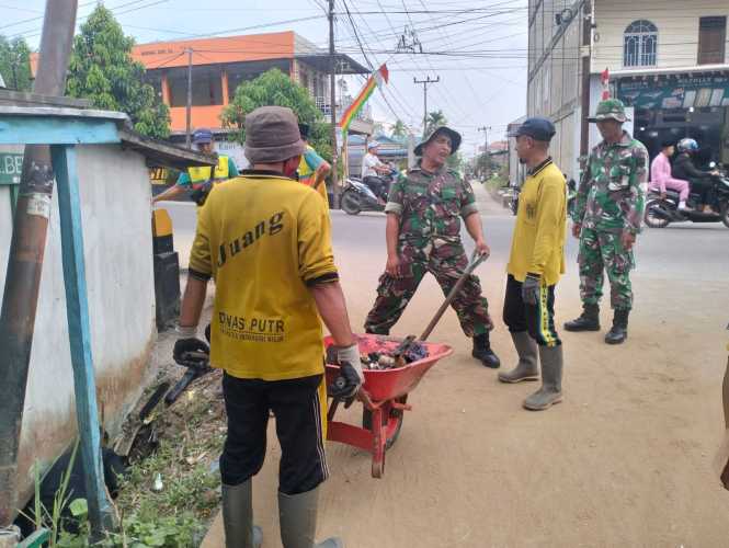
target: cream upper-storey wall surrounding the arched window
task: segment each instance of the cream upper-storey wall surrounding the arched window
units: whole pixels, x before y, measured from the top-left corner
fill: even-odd
[[[658,68],[697,66],[699,18],[729,16],[727,0],[595,0],[594,3],[599,41],[593,47],[593,72],[624,69],[625,30],[641,19],[658,26]],[[725,62],[729,64],[729,42]]]

